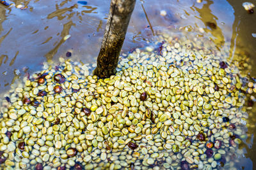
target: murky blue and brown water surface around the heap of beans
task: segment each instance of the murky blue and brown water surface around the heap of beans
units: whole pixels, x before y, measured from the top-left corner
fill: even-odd
[[[72,53],[72,59],[93,63],[108,17],[109,1],[13,1],[24,4],[26,10],[0,5],[0,92],[10,88],[15,79],[26,72],[39,71],[43,62],[54,62],[60,56]],[[157,30],[198,32],[209,36],[220,48],[230,46],[231,59],[243,52],[255,63],[256,38],[253,38],[255,14],[249,15],[242,1],[137,1],[123,46],[123,52],[143,47],[154,39]],[[143,10],[144,8],[144,10]],[[161,11],[166,15],[160,15]],[[147,17],[146,17],[147,16]],[[148,23],[150,22],[150,24]],[[152,25],[152,29],[148,25]],[[200,31],[198,31],[198,29]],[[255,31],[256,32],[256,31]],[[70,34],[67,41],[63,40]],[[255,63],[256,64],[256,63]],[[253,64],[252,64],[253,65]],[[255,68],[245,70],[256,76]],[[1,96],[3,97],[3,95]],[[253,111],[252,111],[253,112]],[[250,114],[250,127],[244,157],[239,159],[241,169],[256,167],[253,154],[255,117]]]

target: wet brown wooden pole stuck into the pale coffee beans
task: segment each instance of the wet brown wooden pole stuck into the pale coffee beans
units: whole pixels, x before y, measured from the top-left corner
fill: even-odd
[[[93,74],[106,78],[115,74],[118,57],[136,0],[111,0],[108,22]]]

